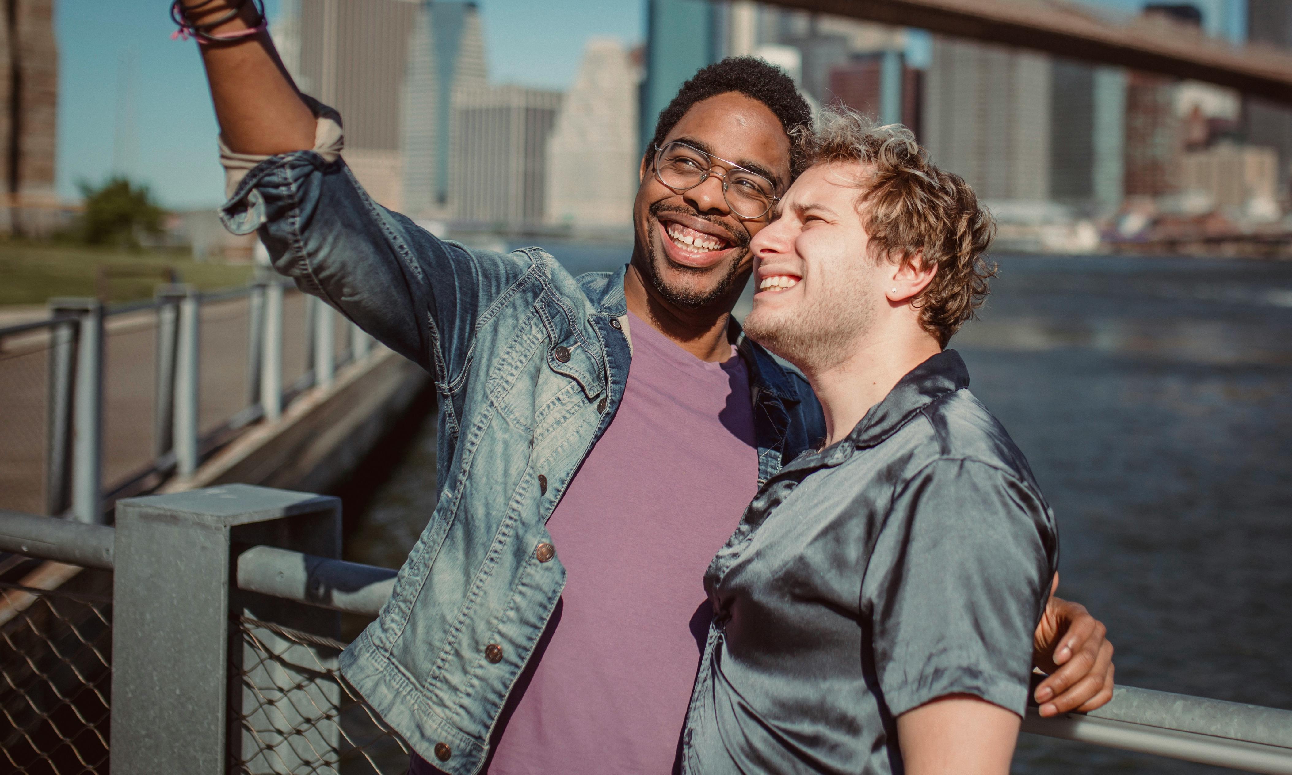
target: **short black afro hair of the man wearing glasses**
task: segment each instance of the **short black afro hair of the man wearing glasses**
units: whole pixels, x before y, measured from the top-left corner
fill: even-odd
[[[655,121],[655,137],[646,146],[649,161],[655,146],[663,145],[673,127],[696,102],[739,92],[767,106],[789,136],[789,180],[806,169],[806,147],[811,136],[811,107],[795,87],[786,71],[757,57],[727,57],[702,67],[691,80],[682,84],[677,97],[668,103]]]

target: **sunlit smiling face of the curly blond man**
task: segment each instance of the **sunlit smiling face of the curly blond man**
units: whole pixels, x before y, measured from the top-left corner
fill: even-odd
[[[854,205],[860,174],[859,164],[813,167],[749,243],[758,291],[744,329],[805,372],[846,358],[884,302],[889,273],[867,256]]]

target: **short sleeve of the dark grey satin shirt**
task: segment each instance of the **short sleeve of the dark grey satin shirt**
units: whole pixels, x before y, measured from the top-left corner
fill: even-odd
[[[862,585],[893,716],[951,694],[1022,716],[1056,563],[1054,519],[1032,487],[974,460],[922,468],[894,499]]]

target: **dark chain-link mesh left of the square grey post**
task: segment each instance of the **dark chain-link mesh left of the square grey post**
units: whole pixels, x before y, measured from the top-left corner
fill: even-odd
[[[45,563],[41,574],[75,574]],[[107,775],[112,601],[70,586],[111,589],[102,575],[47,590],[0,583],[0,770]]]

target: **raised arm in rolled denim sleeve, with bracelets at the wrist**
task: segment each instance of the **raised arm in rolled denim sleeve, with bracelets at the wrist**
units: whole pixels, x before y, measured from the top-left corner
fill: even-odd
[[[252,3],[181,0],[208,35],[236,36],[261,19]],[[479,314],[530,269],[525,256],[437,239],[363,190],[340,158],[341,121],[305,98],[267,32],[199,46],[230,170],[221,208],[235,234],[257,232],[274,269],[379,341],[453,384]],[[319,118],[315,118],[319,111]]]

